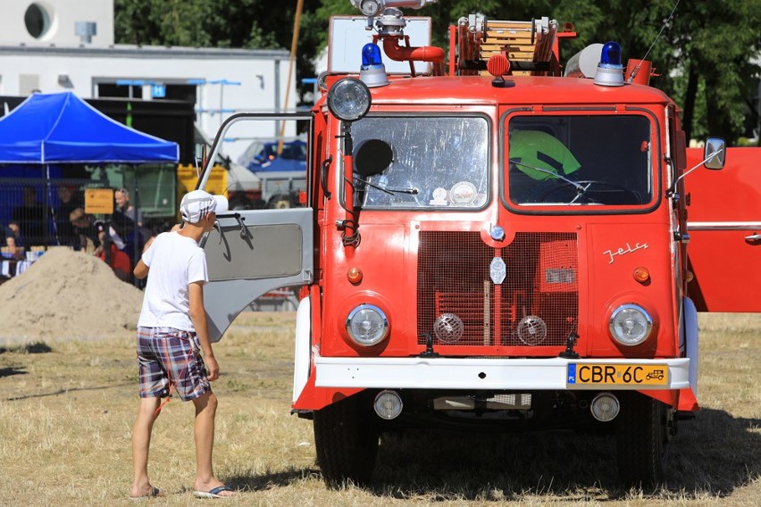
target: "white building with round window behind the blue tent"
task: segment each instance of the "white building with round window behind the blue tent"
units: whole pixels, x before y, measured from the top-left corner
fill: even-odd
[[[287,50],[115,45],[113,0],[0,0],[0,12],[0,96],[71,90],[83,98],[188,100],[208,138],[233,112],[296,110]],[[227,137],[223,149],[233,160],[251,138],[279,133],[272,123],[253,125]]]

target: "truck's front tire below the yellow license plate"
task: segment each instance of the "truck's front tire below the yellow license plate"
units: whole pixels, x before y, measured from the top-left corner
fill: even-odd
[[[621,400],[616,425],[618,474],[626,487],[657,487],[665,481],[669,421],[673,411],[639,393]]]

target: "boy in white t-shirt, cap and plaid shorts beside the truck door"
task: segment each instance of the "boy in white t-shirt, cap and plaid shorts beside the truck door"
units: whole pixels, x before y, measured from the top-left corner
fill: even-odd
[[[172,390],[182,401],[196,405],[193,494],[199,498],[236,495],[213,473],[217,397],[209,382],[219,378],[220,369],[209,340],[204,308],[206,256],[198,245],[201,237],[213,229],[216,213],[225,211],[224,197],[203,190],[189,192],[180,204],[185,226],[156,237],[135,266],[135,276],[147,276],[148,280],[138,320],[140,404],[132,430],[132,498],[163,496],[148,480],[148,451],[161,400]]]

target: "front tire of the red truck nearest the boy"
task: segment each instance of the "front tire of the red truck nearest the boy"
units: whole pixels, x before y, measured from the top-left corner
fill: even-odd
[[[352,396],[314,411],[314,446],[322,478],[331,489],[366,486],[375,468],[379,431],[375,415]]]

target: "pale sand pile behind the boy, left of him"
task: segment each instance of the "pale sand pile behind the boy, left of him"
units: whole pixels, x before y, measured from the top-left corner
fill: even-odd
[[[0,285],[0,341],[129,337],[142,302],[94,255],[52,248]]]

